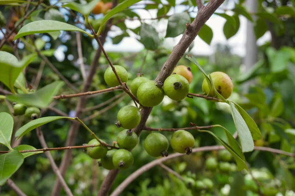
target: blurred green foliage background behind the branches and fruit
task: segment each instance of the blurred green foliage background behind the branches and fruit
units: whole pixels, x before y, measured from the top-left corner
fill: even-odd
[[[231,0],[228,0],[226,3],[230,1]],[[48,0],[45,0],[44,3],[50,5],[50,1]],[[271,41],[259,47],[259,61],[257,64],[250,70],[243,70],[241,66],[242,58],[233,54],[234,52],[228,45],[223,44],[217,45],[214,53],[210,56],[198,56],[198,54],[196,54],[195,57],[206,73],[221,71],[228,73],[232,77],[235,89],[230,100],[240,104],[252,116],[262,131],[263,139],[255,141],[256,146],[273,147],[294,152],[294,1],[259,0],[257,13],[247,12],[243,0],[235,1],[235,3],[236,5],[232,10],[233,12],[228,13],[224,12],[222,9],[218,10],[218,15],[226,19],[223,33],[227,39],[234,36],[239,29],[239,17],[237,16],[245,17],[250,21],[256,17],[254,31],[257,39],[263,36],[266,31],[269,31],[271,34]],[[170,9],[174,9],[174,7],[179,4],[187,5],[187,7],[196,6],[194,0],[185,0],[181,2],[169,0],[168,3],[155,0],[146,5],[145,9],[157,9],[157,17],[161,17],[165,16]],[[8,19],[8,16],[11,14],[9,12],[9,7],[1,6],[1,11],[5,19]],[[66,21],[71,25],[74,25],[76,22],[74,17],[63,8],[45,8],[37,11],[38,14],[36,13],[36,16],[31,17],[26,23],[40,19]],[[173,17],[163,17],[164,19],[159,19],[160,21],[168,18],[167,29],[169,29],[169,31],[168,33],[165,32],[166,37],[176,37],[184,31],[184,29],[181,30],[181,28],[176,28],[176,26],[183,26],[185,23],[189,22],[187,11],[189,11],[189,9]],[[90,15],[90,17],[94,19],[94,16]],[[96,30],[98,30],[99,25],[102,23],[102,21],[99,20],[100,17],[102,16],[95,16],[96,20],[90,21],[90,23],[92,23],[91,25],[97,27]],[[135,33],[138,35],[138,39],[144,45],[145,49],[137,53],[121,51],[108,52],[108,54],[116,64],[127,69],[130,81],[136,77],[136,73],[141,67],[142,73],[148,78],[153,79],[156,77],[171,51],[165,48],[163,45],[165,38],[159,36],[159,30],[153,25],[143,23],[139,28],[128,29],[122,22],[122,19],[133,17],[139,16],[133,12],[132,9],[120,12],[119,15],[114,18],[114,23],[117,23],[116,26],[121,29],[122,34],[109,37],[108,39],[112,39],[114,44],[118,44],[124,37]],[[78,24],[77,26],[89,32],[84,25]],[[61,31],[59,37],[53,39],[54,36],[41,33],[35,35],[34,40],[29,40],[29,42],[34,42],[39,49],[45,50],[49,60],[56,66],[60,73],[72,84],[79,86],[82,84],[83,80],[77,63],[78,54],[75,36],[75,32]],[[210,44],[213,32],[209,26],[205,25],[201,29],[199,36],[207,44]],[[63,46],[65,49],[65,58],[61,61],[53,55],[54,51],[60,46]],[[85,35],[82,36],[82,49],[84,61],[88,68],[93,59],[95,50],[92,47],[92,39]],[[12,52],[9,45],[5,45],[1,50]],[[21,56],[26,56],[28,51],[30,51],[30,49],[20,43],[19,52]],[[189,53],[189,51],[187,52]],[[146,59],[144,65],[143,58]],[[40,63],[41,59],[35,58],[34,61],[29,64],[26,75],[29,84],[34,83]],[[194,64],[184,57],[178,64],[189,66],[192,69],[194,79],[190,85],[190,92],[202,93],[201,85],[204,79],[203,74]],[[105,58],[99,59],[99,67],[91,83],[91,90],[107,88],[103,80],[103,73],[107,65],[108,63]],[[59,76],[53,73],[48,66],[45,66],[39,88],[51,84],[54,81],[59,81]],[[249,84],[250,87],[248,91],[245,91],[245,88],[249,86]],[[60,90],[60,93],[61,92],[62,94],[72,93],[65,85],[62,90]],[[93,96],[88,99],[87,107],[102,103],[120,93],[121,92],[110,92],[108,94]],[[77,100],[78,98],[60,100],[56,102],[55,107],[69,114],[69,116],[74,116],[73,110]],[[9,112],[5,102],[1,102],[0,104],[0,112]],[[117,134],[121,130],[114,124],[117,120],[117,112],[119,108],[126,104],[132,104],[130,98],[125,97],[116,107],[109,109],[103,114],[97,115],[95,118],[87,121],[86,124],[105,142],[111,143],[116,140]],[[97,113],[98,110],[85,112],[84,118]],[[56,116],[56,114],[47,110],[43,116]],[[14,120],[15,127],[20,127],[27,123],[27,120],[23,117],[15,118]],[[165,98],[160,105],[153,109],[147,125],[150,127],[163,128],[186,127],[190,122],[198,125],[221,124],[232,134],[236,131],[227,105],[223,103],[216,104],[200,98],[186,98],[179,102]],[[63,147],[69,126],[70,122],[62,119],[43,126],[42,130],[47,140],[48,147]],[[221,128],[215,128],[213,132],[217,136],[226,139]],[[196,130],[191,131],[191,133],[196,138],[196,147],[218,144],[217,141],[207,133],[200,133]],[[171,137],[171,133],[164,134],[168,138]],[[113,187],[117,187],[118,184],[132,172],[154,160],[143,148],[143,141],[147,135],[148,132],[143,132],[140,137],[139,145],[132,151],[136,160],[134,165],[130,170],[119,173]],[[79,137],[76,138],[76,144],[82,145],[87,143],[90,139],[89,133],[81,127],[79,130]],[[41,148],[34,131],[23,137],[22,144]],[[1,146],[1,150],[6,149],[6,147]],[[173,153],[171,148],[169,148],[169,153]],[[59,165],[63,152],[52,151],[51,154]],[[73,150],[73,154],[73,161],[65,176],[66,182],[69,184],[70,189],[74,190],[74,195],[87,196],[95,194],[104,176],[107,174],[107,171],[99,168],[96,161],[91,160],[83,150]],[[195,153],[190,156],[183,156],[170,160],[166,164],[183,177],[202,179],[206,176],[212,179],[214,181],[214,189],[213,192],[208,193],[208,195],[235,196],[236,193],[244,193],[250,196],[257,195],[257,191],[255,191],[255,181],[249,173],[207,171],[204,167],[204,163],[209,156],[218,157],[216,152]],[[295,191],[294,158],[262,151],[245,153],[245,157],[252,168],[253,175],[261,183],[265,195],[275,195],[277,192],[280,192],[282,195],[287,196],[289,194],[291,196],[291,191]],[[49,161],[44,154],[26,158],[19,171],[12,176],[13,181],[28,196],[50,195],[55,178],[56,176],[52,172]],[[93,183],[93,181],[96,183]],[[273,192],[266,193],[267,190],[272,189],[274,189]],[[122,195],[162,196],[175,194],[182,196],[198,195],[199,193],[191,191],[191,189],[186,187],[184,182],[168,174],[160,167],[155,167],[133,181]],[[8,186],[4,185],[1,187],[0,195],[13,196],[14,192],[12,192]],[[62,195],[65,195],[65,193],[62,192]]]

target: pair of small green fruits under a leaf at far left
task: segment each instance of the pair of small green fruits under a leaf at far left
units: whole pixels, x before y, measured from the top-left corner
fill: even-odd
[[[14,116],[25,115],[31,120],[35,120],[40,116],[40,110],[37,107],[27,107],[23,103],[12,103],[12,105]]]

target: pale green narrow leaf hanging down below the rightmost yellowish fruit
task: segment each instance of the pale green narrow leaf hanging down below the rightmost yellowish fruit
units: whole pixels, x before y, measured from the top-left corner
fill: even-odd
[[[238,133],[238,137],[241,142],[241,147],[243,152],[249,152],[254,149],[254,142],[251,136],[251,132],[248,128],[248,125],[244,121],[243,117],[240,115],[236,106],[233,102],[230,102],[232,116],[234,119],[234,123],[236,125],[236,130]]]

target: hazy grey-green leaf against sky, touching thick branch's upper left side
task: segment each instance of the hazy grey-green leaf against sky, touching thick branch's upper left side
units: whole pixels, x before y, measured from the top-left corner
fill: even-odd
[[[166,30],[166,37],[176,37],[182,34],[186,26],[185,24],[190,23],[190,16],[186,12],[174,14],[168,18],[168,25]]]

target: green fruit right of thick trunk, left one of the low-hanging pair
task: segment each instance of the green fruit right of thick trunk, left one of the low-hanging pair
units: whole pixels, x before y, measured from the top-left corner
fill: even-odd
[[[145,149],[150,156],[168,156],[168,139],[161,133],[151,133],[145,140]]]

